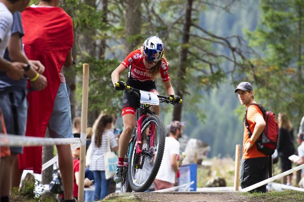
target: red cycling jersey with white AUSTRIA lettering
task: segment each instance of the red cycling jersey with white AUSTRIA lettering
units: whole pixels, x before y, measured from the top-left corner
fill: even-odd
[[[163,59],[162,59],[163,60]],[[127,58],[122,62],[122,65],[126,68],[129,68],[129,77],[139,80],[139,81],[148,81],[151,79],[150,74],[147,72],[146,67],[143,64],[143,56],[140,52],[140,49],[132,51]],[[169,81],[169,72],[168,65],[163,60],[160,68],[160,73],[163,81]]]

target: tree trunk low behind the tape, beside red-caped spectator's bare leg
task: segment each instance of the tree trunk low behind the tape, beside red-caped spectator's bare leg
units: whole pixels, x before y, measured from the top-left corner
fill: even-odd
[[[46,137],[49,137],[49,130],[46,131]],[[49,160],[51,160],[54,155],[54,147],[52,145],[50,146],[43,146],[42,147],[42,163],[46,163]],[[49,168],[42,171],[42,184],[50,184],[50,182],[53,179],[53,166],[50,166]]]

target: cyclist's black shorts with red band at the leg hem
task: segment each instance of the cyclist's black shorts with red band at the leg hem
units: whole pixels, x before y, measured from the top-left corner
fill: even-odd
[[[145,90],[149,92],[156,91],[155,81],[138,81],[132,78],[128,78],[127,85],[130,85],[139,90]],[[136,114],[136,109],[139,107],[139,97],[135,95],[124,92],[123,103],[122,103],[122,116],[126,114]]]

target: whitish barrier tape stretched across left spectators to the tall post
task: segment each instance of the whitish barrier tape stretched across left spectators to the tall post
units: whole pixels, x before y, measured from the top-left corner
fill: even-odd
[[[57,145],[81,143],[81,138],[48,138],[18,136],[0,133],[0,146],[39,146],[39,145]],[[85,141],[84,141],[85,142]]]

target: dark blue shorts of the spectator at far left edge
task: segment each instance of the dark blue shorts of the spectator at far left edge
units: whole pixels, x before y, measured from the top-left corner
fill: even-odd
[[[0,93],[0,108],[8,134],[25,135],[28,109],[26,95],[26,89]],[[11,153],[22,154],[22,149],[22,146],[11,146]]]

